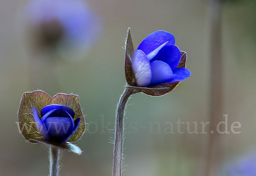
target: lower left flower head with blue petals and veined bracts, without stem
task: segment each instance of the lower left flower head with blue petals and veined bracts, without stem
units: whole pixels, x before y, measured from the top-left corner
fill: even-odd
[[[29,142],[41,142],[81,154],[70,142],[84,133],[85,122],[79,98],[57,94],[51,98],[43,91],[23,94],[18,112],[20,131]]]

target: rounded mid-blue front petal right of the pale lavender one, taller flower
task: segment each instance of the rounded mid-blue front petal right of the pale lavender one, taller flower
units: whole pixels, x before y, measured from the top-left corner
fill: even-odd
[[[160,60],[151,62],[152,80],[151,85],[157,85],[163,82],[168,82],[175,75],[172,73],[170,66]]]

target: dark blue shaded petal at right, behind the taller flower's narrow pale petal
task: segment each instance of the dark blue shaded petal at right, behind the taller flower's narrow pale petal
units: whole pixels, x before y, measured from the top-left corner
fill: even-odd
[[[165,46],[158,52],[151,62],[161,60],[166,62],[172,68],[172,71],[174,71],[180,62],[180,57],[180,49],[176,45]]]

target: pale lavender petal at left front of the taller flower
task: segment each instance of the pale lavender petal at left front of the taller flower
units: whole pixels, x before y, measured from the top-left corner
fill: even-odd
[[[152,78],[150,63],[143,51],[134,52],[131,68],[137,86],[146,87],[150,84]]]

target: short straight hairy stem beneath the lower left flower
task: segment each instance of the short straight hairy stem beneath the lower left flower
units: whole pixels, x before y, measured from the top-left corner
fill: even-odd
[[[58,176],[59,171],[59,149],[50,147],[49,160],[50,160],[50,175]]]

